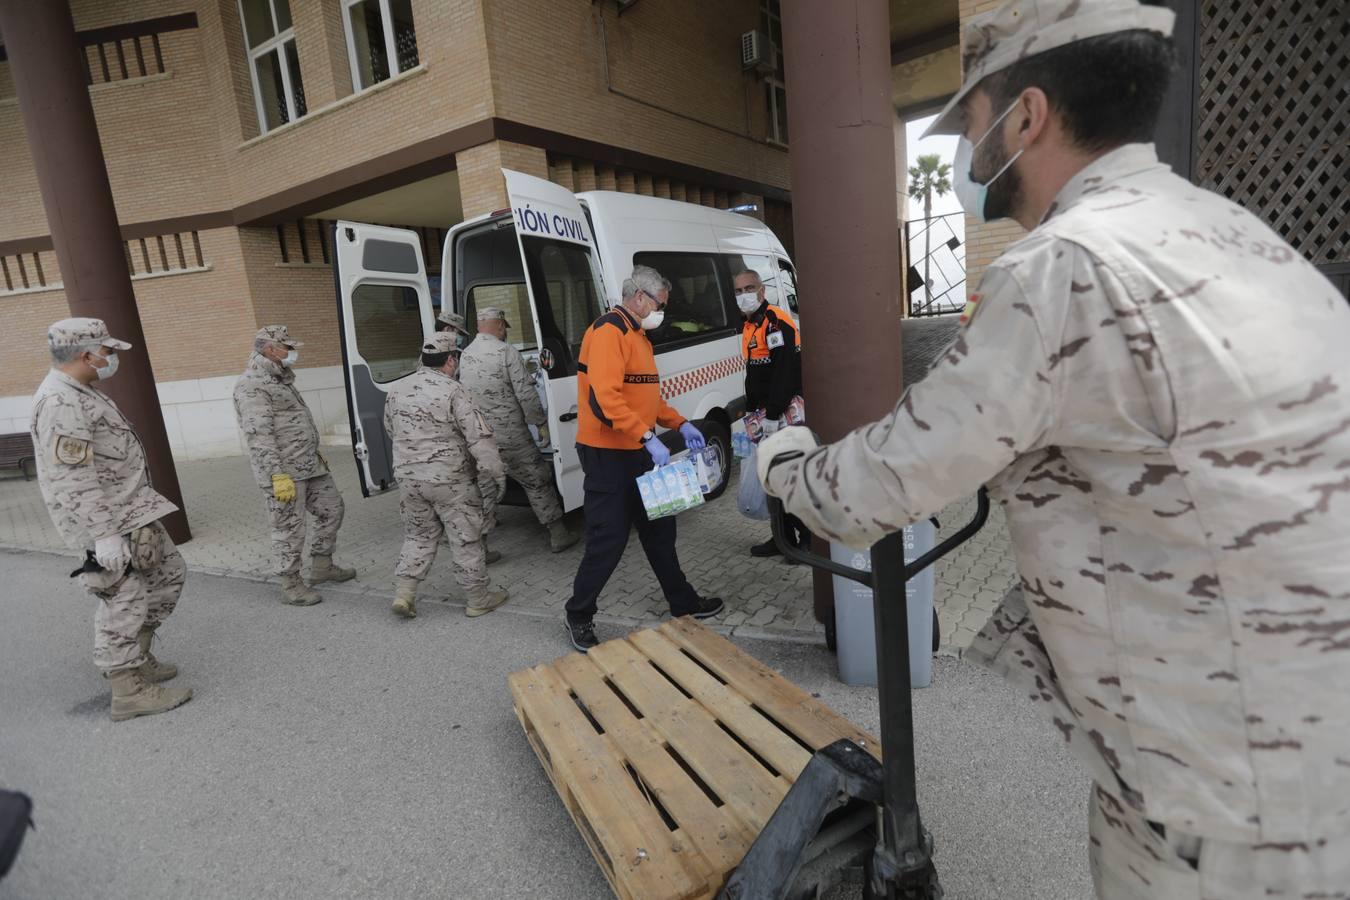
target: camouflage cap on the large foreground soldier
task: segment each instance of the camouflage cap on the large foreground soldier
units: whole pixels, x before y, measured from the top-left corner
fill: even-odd
[[[1145,7],[1138,0],[1007,0],[965,23],[961,89],[922,136],[961,134],[961,116],[954,113],[965,96],[986,77],[1026,57],[1116,31],[1170,35],[1174,20],[1170,9]]]

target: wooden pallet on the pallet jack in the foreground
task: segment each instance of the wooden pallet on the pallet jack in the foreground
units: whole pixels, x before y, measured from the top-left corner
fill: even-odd
[[[516,715],[620,900],[713,897],[811,753],[879,743],[693,619],[510,676]]]

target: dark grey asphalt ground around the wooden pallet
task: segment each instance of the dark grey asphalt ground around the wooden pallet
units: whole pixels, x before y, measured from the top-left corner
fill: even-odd
[[[404,622],[373,596],[294,609],[194,575],[159,652],[196,698],[113,725],[69,567],[0,552],[0,784],[39,827],[0,900],[610,896],[512,714],[506,675],[560,653],[551,618]],[[738,642],[878,727],[875,691],[822,648]],[[1054,730],[954,658],[914,699],[946,896],[1091,896],[1087,781]]]

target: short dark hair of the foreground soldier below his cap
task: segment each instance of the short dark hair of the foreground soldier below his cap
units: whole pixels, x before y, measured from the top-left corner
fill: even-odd
[[[980,86],[995,116],[1027,88],[1040,88],[1077,147],[1110,150],[1153,140],[1174,66],[1170,38],[1157,31],[1116,31],[1027,57]]]

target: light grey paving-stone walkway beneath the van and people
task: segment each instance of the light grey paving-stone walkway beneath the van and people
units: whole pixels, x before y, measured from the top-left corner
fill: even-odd
[[[328,595],[392,596],[393,571],[402,541],[397,491],[363,499],[350,451],[331,448],[333,475],[347,501],[338,559],[355,565],[358,580],[324,587]],[[189,461],[178,466],[193,540],[182,546],[196,572],[263,579],[270,572],[267,522],[261,491],[254,487],[244,457]],[[942,517],[960,526],[972,503],[957,505]],[[579,522],[576,525],[579,528]],[[815,640],[819,625],[811,613],[811,578],[805,567],[780,560],[756,560],[749,546],[768,537],[768,525],[753,522],[736,509],[733,491],[697,510],[680,514],[679,553],[690,580],[705,594],[728,600],[720,623],[749,636]],[[580,545],[549,553],[548,538],[529,510],[508,507],[490,544],[502,552],[491,567],[493,579],[506,587],[512,606],[554,615],[571,592],[580,561]],[[0,546],[65,552],[42,503],[36,482],[0,480]],[[969,645],[1003,590],[1013,580],[1007,534],[995,515],[969,546],[938,564],[938,607],[942,637],[953,650]],[[189,587],[189,591],[192,588]],[[460,598],[450,553],[437,556],[423,596]],[[652,622],[666,613],[666,600],[633,538],[601,598],[602,621],[618,625]]]

